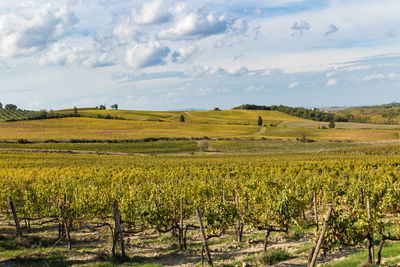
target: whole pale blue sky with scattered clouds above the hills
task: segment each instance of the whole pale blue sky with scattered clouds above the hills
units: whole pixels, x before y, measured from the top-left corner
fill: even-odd
[[[400,101],[399,0],[0,1],[0,102],[23,109]]]

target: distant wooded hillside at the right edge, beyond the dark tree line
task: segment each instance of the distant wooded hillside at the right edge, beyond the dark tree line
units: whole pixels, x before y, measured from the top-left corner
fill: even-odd
[[[353,107],[336,112],[353,122],[400,124],[400,103]]]

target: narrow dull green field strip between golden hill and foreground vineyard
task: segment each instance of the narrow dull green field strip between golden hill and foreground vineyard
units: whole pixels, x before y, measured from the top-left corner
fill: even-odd
[[[3,151],[48,153],[124,153],[124,154],[283,154],[346,153],[397,155],[400,143],[384,142],[311,142],[275,139],[232,139],[200,141],[138,141],[122,143],[0,143]]]

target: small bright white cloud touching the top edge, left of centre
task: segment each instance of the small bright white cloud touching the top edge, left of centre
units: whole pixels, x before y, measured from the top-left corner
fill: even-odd
[[[132,10],[132,18],[136,24],[159,24],[168,22],[171,17],[162,0],[143,4],[138,14]]]

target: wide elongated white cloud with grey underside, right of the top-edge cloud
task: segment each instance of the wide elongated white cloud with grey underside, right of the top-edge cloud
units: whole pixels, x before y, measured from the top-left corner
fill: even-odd
[[[231,24],[226,15],[192,12],[178,20],[172,28],[161,31],[158,37],[170,40],[199,39],[223,33]]]

